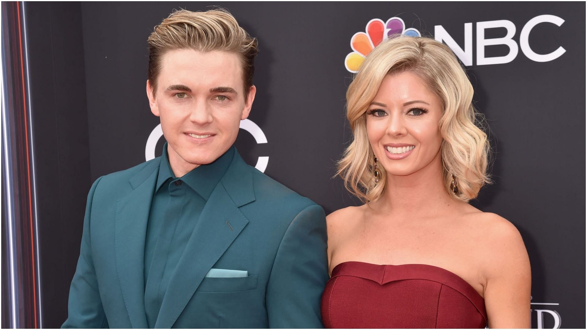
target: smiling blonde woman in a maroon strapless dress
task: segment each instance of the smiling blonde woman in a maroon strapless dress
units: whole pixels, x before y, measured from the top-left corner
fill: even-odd
[[[339,162],[365,204],[327,217],[327,328],[529,328],[518,230],[467,202],[489,183],[473,87],[450,48],[402,36],[367,56],[347,92]]]

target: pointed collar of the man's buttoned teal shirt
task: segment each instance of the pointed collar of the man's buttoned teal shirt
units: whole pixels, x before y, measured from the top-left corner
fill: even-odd
[[[232,157],[234,157],[234,149],[234,146],[232,146],[222,156],[218,157],[217,160],[212,161],[212,163],[200,165],[191,170],[180,178],[181,181],[184,181],[184,183],[207,201],[220,179],[222,179],[222,176],[224,176],[228,166],[230,166]],[[161,164],[159,166],[157,186],[155,189],[156,193],[168,179],[177,179],[177,177],[174,176],[169,165],[166,142],[163,146],[163,154],[161,155]]]

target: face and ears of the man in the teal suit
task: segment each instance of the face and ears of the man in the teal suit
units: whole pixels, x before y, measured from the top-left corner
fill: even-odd
[[[255,86],[245,99],[235,53],[181,49],[162,56],[157,90],[151,92],[147,81],[147,96],[161,119],[171,169],[183,176],[230,148],[251,111]]]

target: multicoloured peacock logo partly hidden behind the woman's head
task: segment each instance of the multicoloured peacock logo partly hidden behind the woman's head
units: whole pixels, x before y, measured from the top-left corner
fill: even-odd
[[[421,36],[417,29],[406,29],[406,24],[399,17],[392,17],[385,23],[379,18],[372,19],[367,23],[365,32],[357,32],[350,38],[350,48],[353,52],[346,55],[345,68],[356,73],[365,56],[379,45],[383,38],[393,39],[400,35]]]

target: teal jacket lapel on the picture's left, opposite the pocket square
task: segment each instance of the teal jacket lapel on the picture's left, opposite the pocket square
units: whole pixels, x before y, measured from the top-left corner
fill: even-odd
[[[144,307],[144,248],[160,161],[130,179],[133,190],[116,206],[114,245],[116,270],[124,305],[133,328],[148,328]]]

